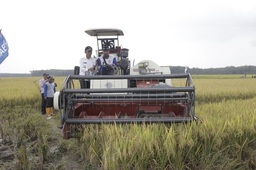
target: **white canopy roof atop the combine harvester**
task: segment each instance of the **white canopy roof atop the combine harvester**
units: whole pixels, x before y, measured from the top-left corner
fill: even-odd
[[[94,28],[85,30],[90,36],[121,36],[124,35],[123,31],[116,28]]]

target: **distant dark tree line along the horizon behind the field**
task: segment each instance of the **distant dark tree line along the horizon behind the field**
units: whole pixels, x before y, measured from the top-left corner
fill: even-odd
[[[172,74],[185,73],[184,66],[169,66]],[[187,73],[191,75],[200,74],[256,74],[256,66],[227,66],[224,68],[187,68]],[[44,73],[55,77],[68,76],[74,74],[74,70],[33,70],[30,73],[0,73],[1,77],[42,77]]]

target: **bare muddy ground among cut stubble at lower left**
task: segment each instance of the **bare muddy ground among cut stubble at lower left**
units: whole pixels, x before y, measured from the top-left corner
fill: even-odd
[[[87,169],[84,168],[84,163],[79,160],[78,155],[72,155],[69,153],[63,153],[59,151],[59,143],[64,140],[61,136],[62,125],[60,123],[60,114],[55,111],[55,116],[52,119],[47,120],[49,123],[48,129],[53,132],[53,140],[48,142],[48,150],[54,156],[53,158],[47,160],[43,165],[39,164],[39,157],[37,153],[33,153],[28,150],[29,163],[31,164],[31,169]],[[46,119],[46,115],[41,115]],[[69,140],[77,140],[71,138]],[[35,141],[26,143],[27,148],[33,148]],[[3,143],[0,136],[0,169],[10,170],[10,169],[23,169],[18,166],[18,160],[15,157],[15,153],[12,147],[12,142]],[[58,167],[58,164],[64,163],[63,166]],[[30,169],[30,168],[29,168]]]

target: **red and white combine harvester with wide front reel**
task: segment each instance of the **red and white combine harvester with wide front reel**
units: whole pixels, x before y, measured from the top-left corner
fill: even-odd
[[[124,35],[122,30],[90,29],[85,32],[97,37],[97,57],[102,56],[104,46],[109,46],[110,55],[121,64],[114,68],[116,75],[79,75],[76,66],[74,75],[64,80],[60,92],[54,96],[54,108],[60,109],[63,138],[68,139],[74,124],[197,120],[195,85],[189,73],[171,74],[169,67],[160,67],[150,60],[130,67],[128,49],[121,49],[118,44],[118,36]],[[184,86],[172,87],[172,79],[185,80]],[[75,88],[74,82],[78,80],[90,80],[91,88],[80,89],[78,85]]]

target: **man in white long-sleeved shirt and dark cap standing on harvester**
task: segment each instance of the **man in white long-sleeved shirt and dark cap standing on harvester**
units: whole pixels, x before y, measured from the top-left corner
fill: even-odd
[[[89,71],[89,75],[93,75],[93,71],[95,70],[96,58],[91,57],[92,48],[87,46],[85,48],[86,56],[81,58],[80,63],[80,75],[85,75],[86,71]],[[90,88],[90,80],[79,80],[81,88]]]

